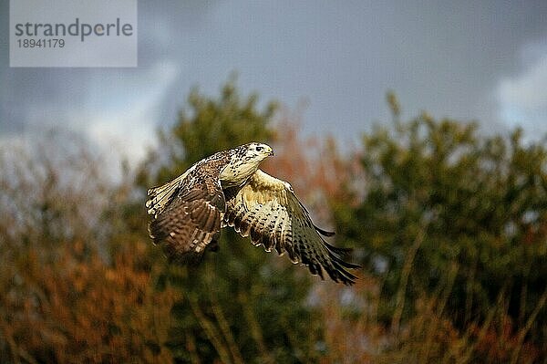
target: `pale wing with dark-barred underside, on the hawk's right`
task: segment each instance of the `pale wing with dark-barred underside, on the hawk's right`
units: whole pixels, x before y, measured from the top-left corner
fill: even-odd
[[[225,223],[242,236],[250,235],[253,244],[262,244],[267,252],[274,248],[279,255],[286,252],[293,263],[307,265],[321,278],[325,270],[335,282],[355,283],[356,276],[346,268],[359,266],[342,259],[348,249],[325,242],[321,235],[334,233],[315,226],[289,183],[258,170],[241,189],[224,193]]]

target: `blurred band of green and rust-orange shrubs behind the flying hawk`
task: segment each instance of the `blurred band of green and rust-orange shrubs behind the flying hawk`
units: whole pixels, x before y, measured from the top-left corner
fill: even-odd
[[[0,148],[0,361],[545,362],[547,149],[519,130],[401,122],[388,102],[390,126],[341,153],[233,81],[218,98],[193,89],[119,182],[74,136]],[[146,189],[250,140],[274,146],[263,169],[354,248],[355,286],[229,232],[197,267],[151,244]]]

